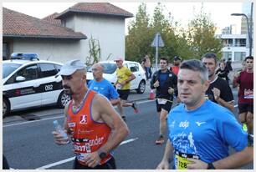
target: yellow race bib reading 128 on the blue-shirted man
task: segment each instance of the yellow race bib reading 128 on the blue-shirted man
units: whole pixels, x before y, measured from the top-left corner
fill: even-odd
[[[187,169],[187,164],[192,164],[192,161],[187,158],[199,159],[197,155],[182,154],[179,151],[175,151],[175,169]]]

